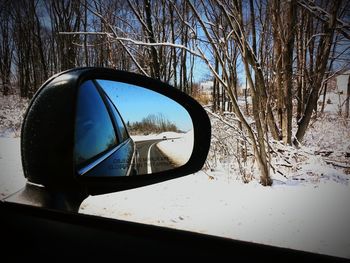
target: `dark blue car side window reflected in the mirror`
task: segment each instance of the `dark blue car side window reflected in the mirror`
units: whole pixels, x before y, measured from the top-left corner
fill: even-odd
[[[92,81],[79,88],[76,116],[74,153],[78,165],[117,144],[107,108]]]

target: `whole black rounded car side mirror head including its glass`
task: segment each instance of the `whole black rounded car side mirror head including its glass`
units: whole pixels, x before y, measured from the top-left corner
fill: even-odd
[[[188,95],[105,68],[53,76],[36,93],[21,136],[25,176],[53,192],[95,195],[200,170],[210,121]]]

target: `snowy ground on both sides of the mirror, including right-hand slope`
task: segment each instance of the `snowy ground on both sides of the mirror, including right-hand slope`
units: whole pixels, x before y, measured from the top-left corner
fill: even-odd
[[[281,166],[285,176],[273,174],[272,187],[256,180],[244,184],[231,167],[235,160],[226,163],[221,158],[215,169],[88,197],[80,213],[350,258],[350,171],[330,163],[350,165],[344,157],[350,149],[350,124],[334,112],[336,98],[311,125],[298,156],[293,155],[295,149],[284,149],[298,158],[292,167]],[[8,113],[4,118],[17,117]],[[0,134],[0,198],[4,198],[25,180],[18,130],[5,127]],[[315,151],[332,153],[324,157]],[[282,160],[276,160],[276,166],[277,162]]]

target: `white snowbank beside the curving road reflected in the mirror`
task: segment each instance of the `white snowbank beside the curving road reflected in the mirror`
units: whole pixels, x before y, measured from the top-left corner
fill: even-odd
[[[186,164],[193,151],[193,130],[185,134],[162,135],[166,136],[167,140],[157,143],[158,149],[177,166]]]

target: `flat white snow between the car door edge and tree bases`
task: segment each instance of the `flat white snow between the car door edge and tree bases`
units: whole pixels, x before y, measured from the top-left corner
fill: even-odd
[[[350,187],[243,184],[199,172],[89,197],[80,212],[350,258]]]

